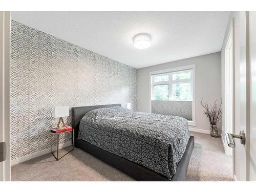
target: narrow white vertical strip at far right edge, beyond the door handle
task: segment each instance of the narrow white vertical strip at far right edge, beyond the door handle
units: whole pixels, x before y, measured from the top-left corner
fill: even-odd
[[[249,180],[256,181],[256,12],[249,12],[250,46],[250,152]]]

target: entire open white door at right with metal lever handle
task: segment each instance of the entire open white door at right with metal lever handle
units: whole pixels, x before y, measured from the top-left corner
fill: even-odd
[[[236,139],[234,180],[256,181],[256,13],[234,16],[234,134],[245,131],[246,143]]]

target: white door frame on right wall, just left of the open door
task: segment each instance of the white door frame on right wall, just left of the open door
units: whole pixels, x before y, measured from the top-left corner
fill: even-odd
[[[225,133],[234,133],[234,20],[228,31],[228,40],[225,46]],[[231,56],[230,56],[231,54]],[[230,61],[231,60],[231,61]],[[227,91],[229,90],[229,91]],[[233,155],[233,149],[227,145],[225,139],[224,146],[226,155]]]

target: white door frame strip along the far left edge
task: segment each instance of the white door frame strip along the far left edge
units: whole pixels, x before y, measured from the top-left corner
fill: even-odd
[[[0,11],[0,181],[10,181],[10,12]]]

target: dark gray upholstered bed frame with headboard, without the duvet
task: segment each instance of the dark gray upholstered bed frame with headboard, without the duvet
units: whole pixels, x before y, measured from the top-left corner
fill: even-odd
[[[131,176],[137,181],[185,181],[187,167],[194,147],[194,137],[190,136],[186,150],[179,161],[176,173],[171,179],[168,179],[153,170],[122,158],[118,155],[103,150],[82,139],[77,139],[80,119],[89,111],[98,108],[108,108],[111,106],[121,106],[120,104],[81,106],[72,108],[72,126],[74,127],[74,146],[93,155],[99,160],[117,168],[121,172]]]

